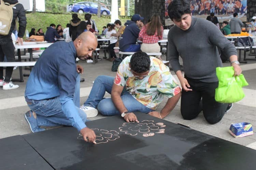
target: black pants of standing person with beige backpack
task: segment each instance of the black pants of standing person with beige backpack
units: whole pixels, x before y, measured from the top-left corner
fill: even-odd
[[[14,45],[11,36],[0,38],[0,62],[6,56],[8,62],[15,62]],[[9,83],[12,77],[13,67],[6,67],[4,81]],[[3,67],[0,67],[0,79],[3,79]]]

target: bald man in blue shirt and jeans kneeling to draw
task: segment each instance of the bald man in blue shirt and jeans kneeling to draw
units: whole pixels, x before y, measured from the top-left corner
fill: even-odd
[[[25,113],[32,132],[44,131],[39,126],[74,126],[85,141],[94,142],[96,135],[85,125],[86,114],[79,108],[80,75],[76,57],[85,60],[97,47],[91,32],[80,34],[69,43],[58,41],[40,56],[28,78],[25,99],[31,109]],[[47,68],[47,69],[46,69]],[[89,114],[89,113],[88,113]]]

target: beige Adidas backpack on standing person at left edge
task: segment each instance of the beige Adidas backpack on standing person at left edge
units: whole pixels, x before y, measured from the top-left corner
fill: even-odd
[[[0,0],[0,35],[8,35],[12,25],[13,6],[16,4],[9,4]]]

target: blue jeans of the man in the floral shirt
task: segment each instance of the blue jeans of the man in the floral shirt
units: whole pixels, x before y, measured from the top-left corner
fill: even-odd
[[[98,111],[104,116],[120,114],[111,98],[103,99],[105,92],[111,94],[114,79],[114,77],[106,75],[98,76],[94,81],[93,88],[91,89],[88,99],[84,102],[84,106],[94,108],[98,107]],[[148,113],[154,111],[153,109],[144,106],[142,103],[134,99],[125,88],[122,91],[121,99],[129,112],[140,111],[143,113]]]

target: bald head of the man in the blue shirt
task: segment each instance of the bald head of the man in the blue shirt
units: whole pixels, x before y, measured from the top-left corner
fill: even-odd
[[[97,38],[89,31],[83,32],[74,40],[76,55],[81,60],[86,60],[86,58],[91,56],[97,45]]]

